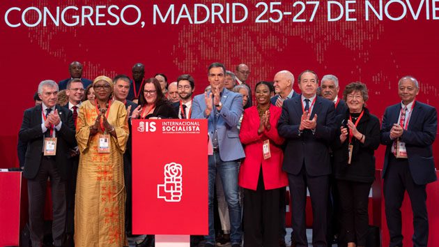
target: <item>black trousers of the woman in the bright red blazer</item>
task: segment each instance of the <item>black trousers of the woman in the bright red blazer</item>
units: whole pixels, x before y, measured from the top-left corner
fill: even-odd
[[[265,190],[261,170],[256,190],[243,190],[244,247],[279,246],[279,202],[282,189]]]

